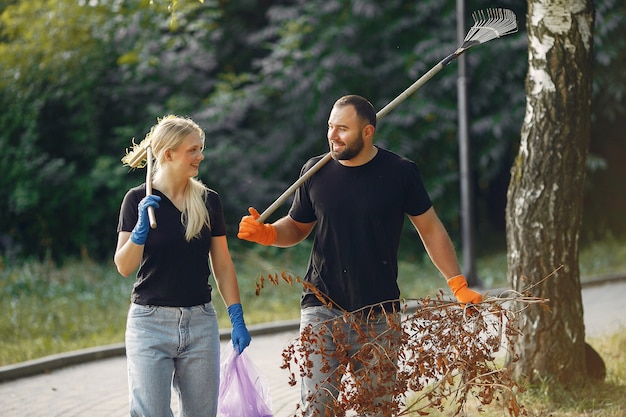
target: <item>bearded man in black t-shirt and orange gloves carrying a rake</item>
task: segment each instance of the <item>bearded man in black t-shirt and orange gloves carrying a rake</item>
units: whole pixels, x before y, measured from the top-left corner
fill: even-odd
[[[356,95],[341,97],[328,119],[327,138],[333,159],[298,188],[287,216],[273,224],[262,224],[257,221],[258,212],[250,208],[250,215],[244,216],[239,225],[240,239],[278,247],[296,245],[315,228],[304,277],[315,290],[304,288],[301,332],[309,325],[332,319],[340,322],[345,311],[362,311],[368,306],[374,306],[365,315],[376,327],[372,334],[389,329],[388,321],[397,314],[400,296],[397,252],[405,215],[457,300],[482,301],[461,275],[452,241],[435,213],[418,167],[374,146],[375,131],[376,112],[369,101]],[[310,159],[301,174],[320,158]],[[351,325],[346,324],[343,331],[352,331]],[[328,335],[323,351],[334,351],[336,340]],[[355,344],[356,352],[363,343]],[[333,375],[338,361],[316,358],[311,364],[313,369],[302,380],[301,410],[310,416],[332,415],[332,400],[337,397],[340,379]],[[352,366],[356,369],[369,365]],[[380,413],[389,414],[384,407]]]

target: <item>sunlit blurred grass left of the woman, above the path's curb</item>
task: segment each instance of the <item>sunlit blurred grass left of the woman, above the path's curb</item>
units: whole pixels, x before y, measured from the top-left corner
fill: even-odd
[[[0,271],[0,365],[123,340],[132,283],[110,266],[28,262]]]

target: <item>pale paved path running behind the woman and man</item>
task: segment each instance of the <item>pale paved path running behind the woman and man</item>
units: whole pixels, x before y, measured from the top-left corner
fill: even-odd
[[[582,293],[588,338],[626,328],[626,281],[586,287]],[[274,417],[295,412],[299,388],[280,369],[283,347],[297,330],[257,335],[247,352],[265,374]],[[223,341],[224,346],[228,341]],[[2,417],[125,417],[128,415],[124,356],[73,365],[0,383]]]

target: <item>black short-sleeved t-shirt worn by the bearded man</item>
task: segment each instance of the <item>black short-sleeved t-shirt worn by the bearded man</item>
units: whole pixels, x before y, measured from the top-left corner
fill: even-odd
[[[393,152],[378,148],[358,167],[331,160],[298,188],[289,211],[296,221],[317,221],[305,281],[348,311],[398,299],[404,217],[431,206],[417,165]],[[305,289],[301,304],[322,303]]]

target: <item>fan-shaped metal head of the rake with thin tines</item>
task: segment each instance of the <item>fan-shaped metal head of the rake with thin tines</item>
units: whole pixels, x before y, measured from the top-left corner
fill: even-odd
[[[465,50],[474,45],[517,32],[515,13],[509,9],[487,9],[472,13],[474,26],[465,36],[459,49]]]

